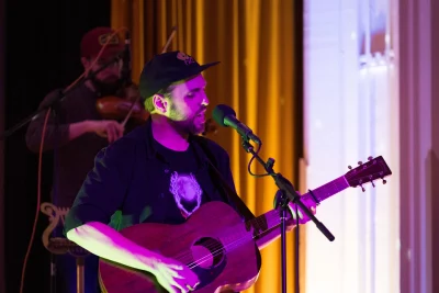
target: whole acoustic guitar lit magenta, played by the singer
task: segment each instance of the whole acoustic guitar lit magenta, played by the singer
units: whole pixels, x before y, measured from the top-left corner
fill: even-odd
[[[372,183],[391,176],[382,156],[369,157],[346,174],[301,196],[311,206],[351,187],[364,191]],[[185,263],[199,277],[194,292],[219,293],[243,291],[257,280],[261,256],[256,240],[267,232],[280,227],[279,211],[272,210],[243,223],[241,217],[225,203],[210,202],[194,212],[184,224],[144,223],[121,230],[138,245]],[[251,227],[251,228],[250,228]],[[280,228],[279,228],[280,234]],[[108,293],[166,292],[156,285],[154,275],[119,263],[100,259],[100,284]]]

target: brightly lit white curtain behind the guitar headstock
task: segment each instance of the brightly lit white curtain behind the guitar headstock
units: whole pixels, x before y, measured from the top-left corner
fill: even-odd
[[[399,292],[398,92],[390,0],[305,1],[306,188],[383,156],[383,185],[349,188],[306,226],[306,293]]]

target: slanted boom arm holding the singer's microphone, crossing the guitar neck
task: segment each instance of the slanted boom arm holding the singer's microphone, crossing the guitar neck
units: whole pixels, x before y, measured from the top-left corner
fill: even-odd
[[[314,224],[317,226],[317,228],[325,235],[326,238],[328,238],[329,241],[334,241],[335,237],[334,235],[326,228],[326,226],[319,222],[314,214],[309,211],[309,209],[301,201],[301,196],[295,192],[295,189],[293,184],[285,179],[281,173],[274,173],[273,170],[273,165],[274,160],[273,159],[268,159],[267,162],[264,162],[258,154],[255,153],[254,147],[248,143],[248,140],[243,137],[243,147],[247,153],[250,153],[254,155],[254,157],[263,166],[266,171],[274,179],[275,184],[280,190],[284,192],[284,194],[288,196],[288,199],[297,204],[302,211],[311,218],[311,221],[314,222]]]

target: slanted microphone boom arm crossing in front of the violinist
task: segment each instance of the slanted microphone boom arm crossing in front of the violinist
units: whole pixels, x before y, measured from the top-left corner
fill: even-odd
[[[76,89],[77,87],[79,87],[80,84],[82,84],[83,82],[86,82],[87,80],[91,79],[93,76],[95,76],[97,74],[99,74],[100,71],[102,71],[104,68],[109,67],[111,64],[117,61],[120,59],[120,56],[114,57],[113,59],[111,59],[110,61],[105,63],[104,65],[102,65],[98,70],[92,71],[90,75],[88,75],[86,78],[82,78],[79,82],[75,83],[74,87],[69,88],[68,90],[64,90],[60,91],[60,94],[55,95],[54,99],[52,99],[47,105],[43,106],[41,110],[35,111],[33,114],[29,115],[27,117],[23,119],[22,121],[20,121],[19,123],[16,123],[14,126],[12,126],[11,128],[7,129],[5,132],[3,132],[0,135],[0,140],[3,140],[4,138],[7,138],[8,136],[12,135],[14,132],[16,132],[18,129],[20,129],[21,127],[23,127],[24,125],[26,125],[29,122],[31,122],[32,120],[36,119],[41,113],[43,113],[44,111],[46,111],[47,109],[52,108],[55,103],[63,101],[64,98],[66,98],[66,95],[72,91],[74,89]]]

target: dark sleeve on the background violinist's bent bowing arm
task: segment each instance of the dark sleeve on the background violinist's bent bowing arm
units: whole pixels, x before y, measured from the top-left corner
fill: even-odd
[[[43,102],[41,102],[38,110],[43,110],[50,105],[53,101],[57,99],[57,97],[61,94],[60,90],[54,90],[48,93]],[[31,151],[38,153],[40,145],[43,136],[43,127],[44,121],[46,120],[46,114],[48,110],[42,111],[27,126],[25,139],[26,146]],[[50,150],[57,144],[58,147],[66,145],[69,142],[69,125],[68,124],[58,124],[55,125],[54,113],[50,112],[47,119],[47,125],[44,136],[44,146],[43,150]]]

